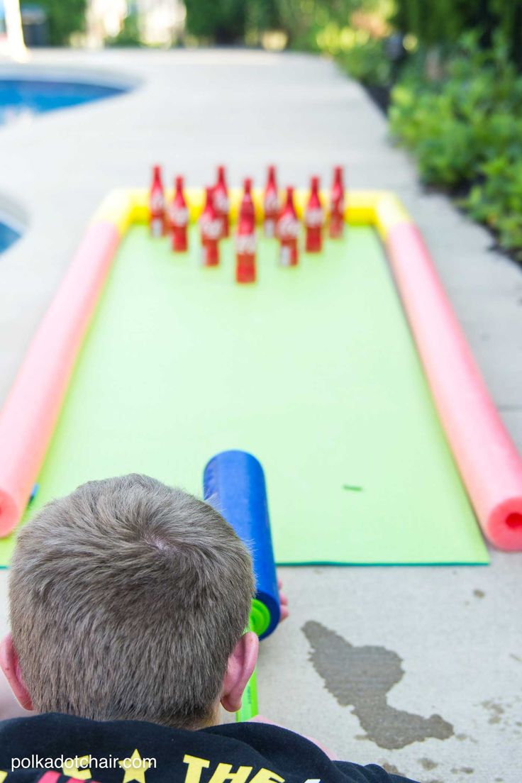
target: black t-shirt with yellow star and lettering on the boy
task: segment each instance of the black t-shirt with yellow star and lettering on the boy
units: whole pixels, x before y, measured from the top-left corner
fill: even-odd
[[[89,783],[406,781],[373,764],[330,761],[300,734],[267,723],[185,731],[58,713],[2,721],[0,770],[0,783],[70,783],[67,778]]]

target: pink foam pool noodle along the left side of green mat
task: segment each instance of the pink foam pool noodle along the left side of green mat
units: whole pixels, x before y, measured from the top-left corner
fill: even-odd
[[[0,536],[27,506],[118,240],[113,223],[88,229],[0,413]]]

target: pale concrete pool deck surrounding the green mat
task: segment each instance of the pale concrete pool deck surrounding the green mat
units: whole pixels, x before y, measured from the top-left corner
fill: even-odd
[[[2,398],[107,190],[145,184],[155,161],[196,185],[221,161],[232,182],[261,182],[273,161],[297,185],[311,173],[329,182],[342,163],[349,186],[394,189],[405,201],[522,447],[522,273],[445,197],[423,193],[380,112],[333,64],[243,51],[57,51],[38,52],[31,67],[137,86],[0,128],[0,206],[14,201],[29,222],[0,256]],[[494,552],[488,568],[282,569],[292,615],[263,644],[262,712],[341,758],[426,783],[519,783],[521,567],[522,556]],[[5,584],[4,573],[2,629]]]

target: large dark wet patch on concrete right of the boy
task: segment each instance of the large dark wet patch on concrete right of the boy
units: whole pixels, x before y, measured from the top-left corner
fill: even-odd
[[[351,706],[369,739],[380,748],[404,748],[434,737],[448,739],[451,723],[440,715],[424,718],[387,703],[387,694],[404,675],[401,658],[384,647],[355,647],[313,620],[303,626],[311,645],[310,660],[326,690],[343,706]]]

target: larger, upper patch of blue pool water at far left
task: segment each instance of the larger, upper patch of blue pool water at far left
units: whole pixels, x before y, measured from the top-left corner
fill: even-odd
[[[19,114],[78,106],[92,100],[112,98],[126,92],[124,88],[68,81],[0,79],[0,124]]]

